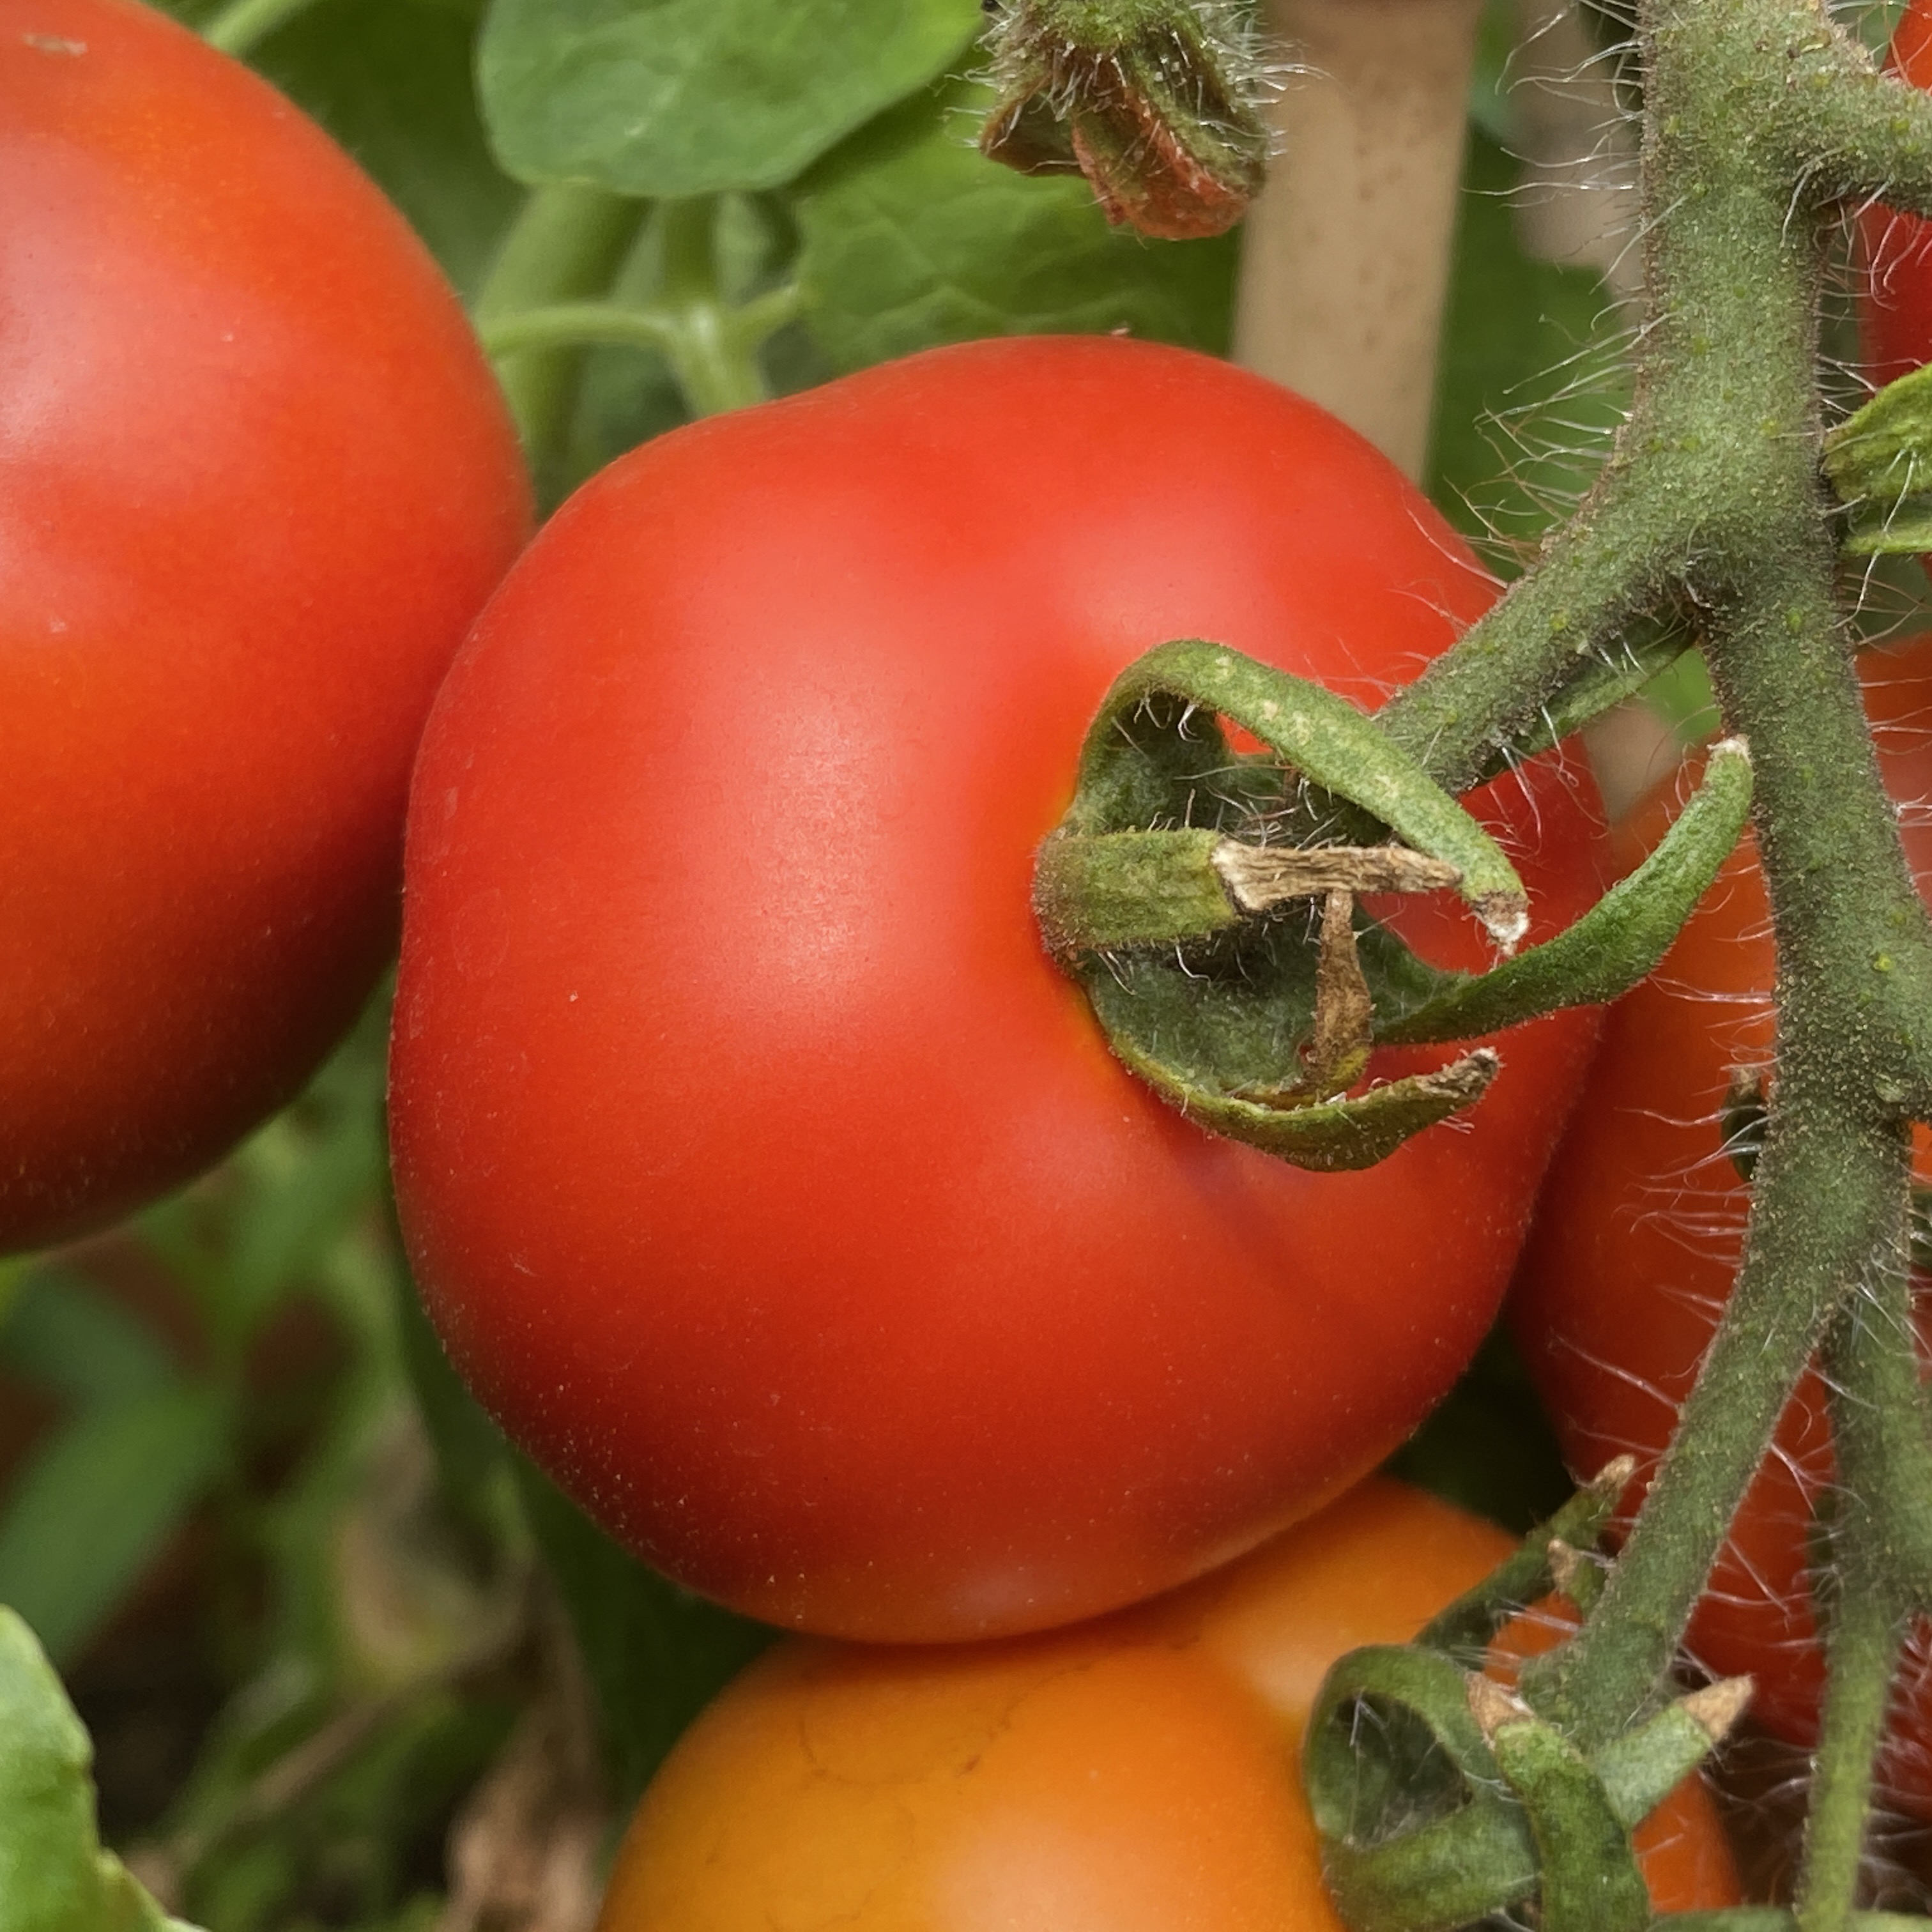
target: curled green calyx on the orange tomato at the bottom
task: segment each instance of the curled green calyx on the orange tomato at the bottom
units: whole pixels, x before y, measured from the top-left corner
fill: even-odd
[[[1536,1901],[1549,1932],[1642,1932],[1640,1824],[1745,1710],[1748,1679],[1667,1704],[1594,1758],[1482,1671],[1482,1644],[1575,1575],[1629,1480],[1607,1468],[1412,1646],[1341,1658],[1321,1685],[1304,1777],[1343,1918],[1447,1932]]]

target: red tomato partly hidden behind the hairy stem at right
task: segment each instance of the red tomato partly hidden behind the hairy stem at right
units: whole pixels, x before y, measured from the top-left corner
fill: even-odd
[[[1866,663],[1866,711],[1891,794],[1932,794],[1932,636]],[[1623,829],[1634,858],[1673,815],[1667,784]],[[1932,879],[1932,821],[1903,815],[1907,854]],[[1731,858],[1658,972],[1611,1009],[1604,1049],[1549,1169],[1511,1321],[1577,1470],[1634,1451],[1642,1495],[1696,1378],[1737,1262],[1748,1190],[1719,1113],[1735,1068],[1772,1061],[1776,958],[1748,842]],[[1932,1153],[1920,1136],[1922,1179]],[[1758,1681],[1752,1712],[1810,1743],[1824,1683],[1806,1567],[1812,1505],[1832,1480],[1826,1395],[1806,1376],[1777,1428],[1690,1625],[1718,1675]],[[1932,1660],[1924,1631],[1901,1687],[1888,1770],[1901,1803],[1932,1806]]]

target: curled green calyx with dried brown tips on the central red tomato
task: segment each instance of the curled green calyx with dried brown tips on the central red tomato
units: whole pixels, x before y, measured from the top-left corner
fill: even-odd
[[[1235,752],[1225,724],[1265,750]],[[1113,1051],[1177,1109],[1298,1167],[1370,1167],[1499,1066],[1474,1047],[1364,1088],[1376,1047],[1615,997],[1662,956],[1748,800],[1750,761],[1721,746],[1660,850],[1577,925],[1488,974],[1441,972],[1356,898],[1453,891],[1509,949],[1528,902],[1495,840],[1333,692],[1179,639],[1107,692],[1034,906]]]

